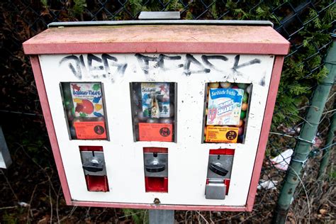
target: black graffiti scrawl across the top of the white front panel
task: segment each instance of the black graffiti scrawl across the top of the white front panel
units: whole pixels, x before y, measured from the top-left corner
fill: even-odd
[[[83,77],[91,77],[94,79],[110,79],[114,82],[116,76],[123,77],[130,65],[135,61],[144,74],[150,74],[151,71],[159,69],[161,72],[169,70],[177,70],[186,77],[194,74],[206,74],[215,72],[223,72],[223,74],[244,75],[241,69],[244,67],[257,66],[262,60],[254,58],[252,60],[240,62],[240,55],[201,55],[201,60],[196,59],[194,55],[143,55],[135,54],[136,60],[125,60],[125,58],[117,55],[101,54],[101,55],[67,55],[60,60],[60,66],[67,65],[69,70],[78,79]],[[234,60],[229,60],[233,57]],[[95,64],[95,65],[94,65]],[[169,64],[169,65],[167,65]],[[135,65],[136,67],[136,65]],[[225,71],[227,67],[230,71]],[[224,75],[223,78],[227,78]],[[258,84],[264,85],[264,78],[260,79]]]

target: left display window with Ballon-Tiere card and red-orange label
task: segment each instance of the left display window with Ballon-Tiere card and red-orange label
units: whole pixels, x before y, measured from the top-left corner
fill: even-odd
[[[60,83],[71,140],[108,140],[103,85],[100,82]]]

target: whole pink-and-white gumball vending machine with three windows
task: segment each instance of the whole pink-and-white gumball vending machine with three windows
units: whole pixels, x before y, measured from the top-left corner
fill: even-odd
[[[289,51],[270,22],[51,23],[23,48],[67,204],[252,211]]]

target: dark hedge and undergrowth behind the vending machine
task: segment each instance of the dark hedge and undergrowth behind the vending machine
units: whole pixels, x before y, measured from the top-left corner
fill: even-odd
[[[274,168],[269,159],[294,147],[310,96],[327,74],[323,57],[332,43],[330,33],[335,26],[332,1],[14,0],[1,1],[0,9],[0,125],[13,159],[9,169],[0,170],[1,223],[147,222],[145,210],[65,205],[29,58],[22,50],[25,40],[53,21],[130,20],[136,19],[140,11],[180,11],[183,19],[269,20],[291,42],[261,175],[261,181],[274,182],[276,189],[260,189],[252,213],[177,211],[175,215],[181,223],[270,222],[286,172]],[[291,223],[335,220],[333,164],[325,181],[316,181],[335,89],[332,93],[319,127],[320,144],[313,146],[315,153],[306,165],[303,184],[291,206]]]

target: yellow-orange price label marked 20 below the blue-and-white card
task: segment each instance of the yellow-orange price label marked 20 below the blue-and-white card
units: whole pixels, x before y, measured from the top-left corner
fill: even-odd
[[[238,129],[235,127],[207,126],[206,142],[236,143]]]

